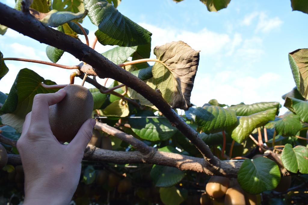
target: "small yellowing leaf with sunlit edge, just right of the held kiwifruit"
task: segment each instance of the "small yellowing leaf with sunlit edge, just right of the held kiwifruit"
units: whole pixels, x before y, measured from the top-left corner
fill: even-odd
[[[129,115],[128,105],[127,103],[122,105],[120,100],[113,101],[105,109],[103,109],[103,115],[126,117]]]

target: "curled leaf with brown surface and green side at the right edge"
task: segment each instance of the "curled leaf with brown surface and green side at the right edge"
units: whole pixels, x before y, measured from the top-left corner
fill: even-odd
[[[289,63],[298,92],[307,99],[308,49],[297,49],[289,53]]]

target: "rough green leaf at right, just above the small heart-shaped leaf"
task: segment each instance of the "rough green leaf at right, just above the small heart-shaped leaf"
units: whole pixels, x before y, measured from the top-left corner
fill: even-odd
[[[274,121],[276,133],[282,136],[294,136],[302,129],[302,123],[299,116],[292,112],[279,116]]]

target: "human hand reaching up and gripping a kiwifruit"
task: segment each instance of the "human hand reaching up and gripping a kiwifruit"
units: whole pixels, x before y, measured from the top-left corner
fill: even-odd
[[[25,172],[24,205],[69,204],[77,188],[95,120],[88,119],[68,145],[59,143],[51,132],[49,106],[65,95],[63,89],[35,95],[32,111],[23,124],[17,149]]]

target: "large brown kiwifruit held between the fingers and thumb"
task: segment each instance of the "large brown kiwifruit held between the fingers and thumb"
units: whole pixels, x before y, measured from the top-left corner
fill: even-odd
[[[51,131],[60,142],[69,142],[93,111],[91,92],[81,85],[67,85],[66,96],[57,104],[49,106]]]

